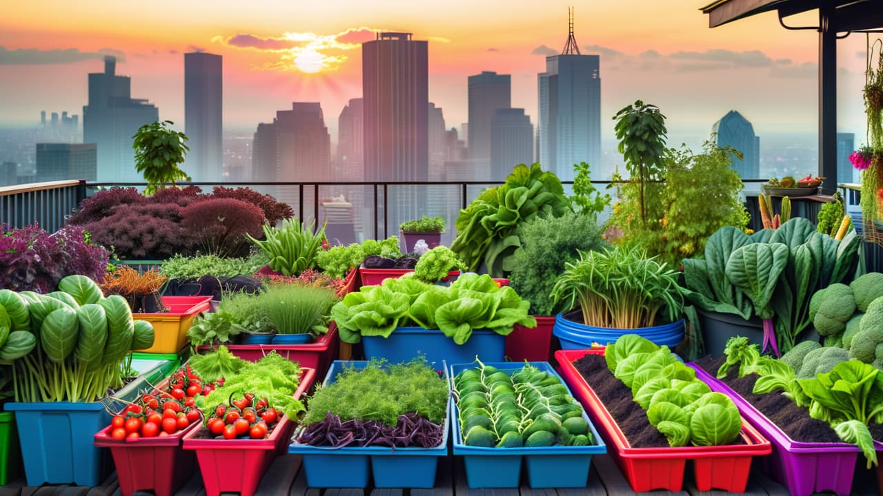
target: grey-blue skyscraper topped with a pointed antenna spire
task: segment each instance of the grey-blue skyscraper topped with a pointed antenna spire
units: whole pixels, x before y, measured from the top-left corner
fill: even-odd
[[[562,181],[573,179],[575,163],[598,169],[601,162],[600,57],[579,53],[569,13],[567,43],[561,55],[546,57],[538,80],[540,163]]]

